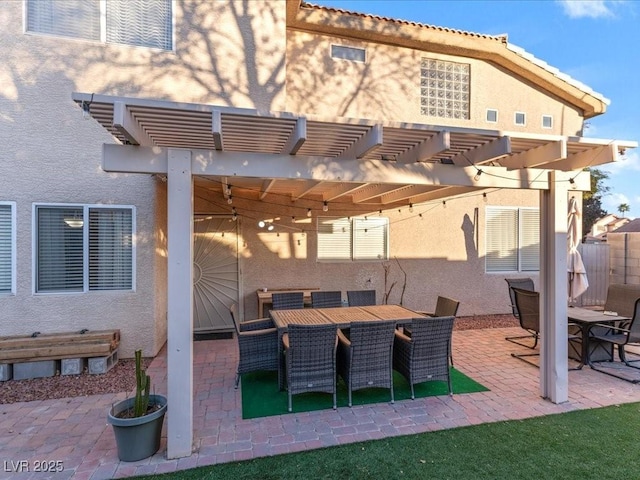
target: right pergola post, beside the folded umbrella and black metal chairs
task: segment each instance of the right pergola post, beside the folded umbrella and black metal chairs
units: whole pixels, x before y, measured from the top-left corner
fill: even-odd
[[[540,393],[562,403],[569,399],[568,182],[549,172],[549,189],[540,192]]]

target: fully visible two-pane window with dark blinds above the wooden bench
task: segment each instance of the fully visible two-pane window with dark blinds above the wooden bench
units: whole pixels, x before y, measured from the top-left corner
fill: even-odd
[[[135,207],[34,205],[35,293],[135,289]]]

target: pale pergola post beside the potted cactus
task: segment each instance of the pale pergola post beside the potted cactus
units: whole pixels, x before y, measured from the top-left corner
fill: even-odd
[[[167,169],[167,458],[193,443],[193,179],[191,152],[170,149]]]

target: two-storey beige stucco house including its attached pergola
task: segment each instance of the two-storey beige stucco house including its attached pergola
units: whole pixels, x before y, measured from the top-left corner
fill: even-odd
[[[230,330],[232,302],[374,288],[506,313],[504,278],[531,276],[541,393],[566,400],[568,197],[636,146],[582,136],[603,96],[506,36],[299,0],[72,4],[0,5],[5,335],[168,340],[179,457],[194,330]]]

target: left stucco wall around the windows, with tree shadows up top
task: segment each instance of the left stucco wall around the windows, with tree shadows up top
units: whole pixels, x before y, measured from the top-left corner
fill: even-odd
[[[175,2],[175,51],[23,33],[23,2],[0,4],[0,200],[17,203],[17,291],[3,335],[120,328],[121,356],[166,340],[166,186],[101,170],[113,138],[72,92],[284,108],[284,2]],[[34,294],[34,203],[133,205],[134,292]]]

